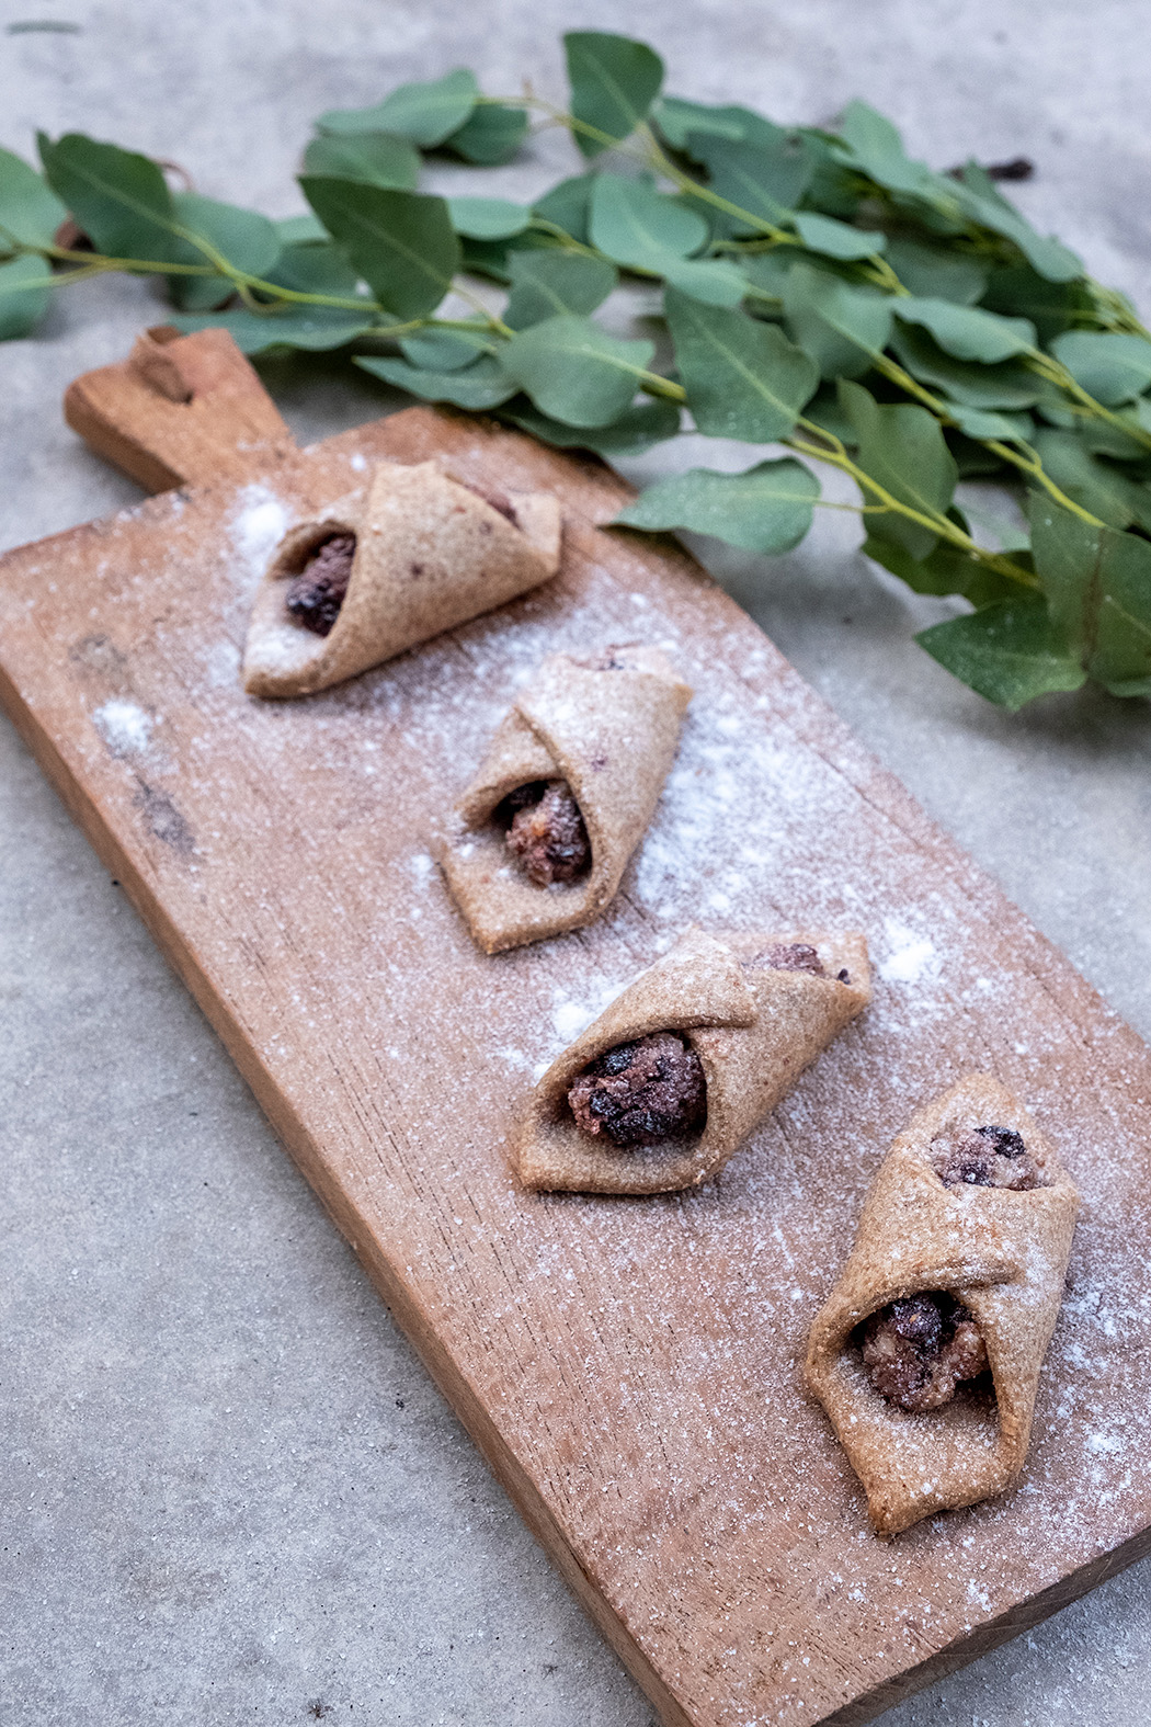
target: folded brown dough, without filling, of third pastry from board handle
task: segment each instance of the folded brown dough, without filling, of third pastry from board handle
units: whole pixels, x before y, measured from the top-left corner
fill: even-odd
[[[756,964],[780,945],[815,948],[823,976]],[[837,974],[847,972],[842,983]],[[709,936],[692,927],[552,1062],[519,1126],[514,1162],[533,1190],[668,1193],[714,1176],[799,1074],[870,1000],[866,943],[858,934]],[[676,1031],[706,1083],[697,1131],[618,1145],[576,1124],[569,1091],[620,1045]]]

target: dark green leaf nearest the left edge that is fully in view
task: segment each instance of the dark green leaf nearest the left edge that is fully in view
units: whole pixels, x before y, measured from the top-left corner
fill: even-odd
[[[173,233],[173,195],[157,164],[135,150],[67,133],[41,147],[45,174],[97,252],[107,257],[179,256]]]

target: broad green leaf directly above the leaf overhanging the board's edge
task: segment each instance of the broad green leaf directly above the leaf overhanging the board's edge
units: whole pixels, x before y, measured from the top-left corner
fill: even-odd
[[[675,288],[664,304],[699,430],[747,444],[785,437],[820,382],[813,361],[777,325],[704,307]]]

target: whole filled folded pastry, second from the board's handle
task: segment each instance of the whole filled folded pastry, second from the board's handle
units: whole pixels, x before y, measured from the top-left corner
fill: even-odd
[[[485,953],[590,924],[652,819],[692,699],[657,648],[550,655],[437,855]]]

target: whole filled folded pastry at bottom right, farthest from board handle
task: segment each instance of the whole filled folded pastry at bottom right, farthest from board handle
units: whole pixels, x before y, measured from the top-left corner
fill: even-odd
[[[1051,1145],[987,1074],[918,1110],[884,1159],[806,1370],[880,1534],[1023,1468],[1077,1209]]]

